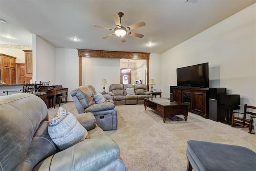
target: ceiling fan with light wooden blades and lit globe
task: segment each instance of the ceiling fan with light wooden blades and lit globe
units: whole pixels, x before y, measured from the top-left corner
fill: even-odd
[[[137,24],[132,24],[130,26],[124,27],[124,26],[121,25],[121,17],[122,16],[124,16],[124,13],[122,13],[122,12],[118,12],[117,14],[112,14],[112,17],[113,17],[114,22],[116,24],[116,28],[114,28],[114,29],[106,28],[106,27],[103,27],[103,26],[97,26],[95,24],[92,24],[92,26],[114,31],[111,34],[108,34],[107,36],[102,37],[102,39],[106,39],[110,36],[116,35],[116,36],[121,38],[121,42],[123,43],[123,42],[125,42],[124,36],[126,34],[131,35],[131,36],[135,36],[135,37],[138,37],[138,38],[143,38],[143,36],[144,36],[143,34],[130,32],[130,30],[138,28],[138,27],[146,26],[146,23],[145,22],[139,22]]]

